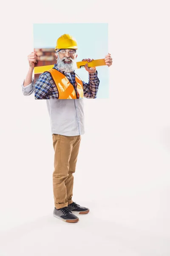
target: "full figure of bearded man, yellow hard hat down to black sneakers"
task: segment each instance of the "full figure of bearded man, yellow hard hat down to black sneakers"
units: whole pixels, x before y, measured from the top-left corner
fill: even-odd
[[[60,41],[62,41],[62,45],[59,47]],[[88,208],[81,207],[72,201],[73,174],[76,169],[81,135],[85,133],[84,105],[80,95],[83,93],[86,98],[96,98],[99,86],[96,67],[89,68],[88,65],[85,65],[85,70],[89,73],[88,83],[77,78],[74,72],[77,54],[72,51],[75,49],[77,49],[77,42],[71,35],[65,34],[58,38],[57,52],[55,53],[57,64],[54,64],[54,70],[48,70],[40,75],[35,85],[32,73],[34,63],[37,62],[37,55],[32,52],[28,55],[29,70],[24,84],[22,84],[24,95],[30,95],[36,89],[35,99],[47,99],[54,146],[53,192],[55,207],[53,214],[54,217],[70,223],[79,221],[74,213],[87,214],[89,212]],[[82,61],[85,60],[92,61],[91,59]],[[110,54],[106,55],[105,63],[111,66]],[[79,89],[77,89],[78,83]],[[74,90],[71,92],[74,98],[60,99],[60,93],[67,84],[68,87],[73,87]]]

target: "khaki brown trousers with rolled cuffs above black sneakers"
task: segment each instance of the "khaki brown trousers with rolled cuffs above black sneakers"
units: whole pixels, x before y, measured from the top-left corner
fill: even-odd
[[[53,192],[57,209],[71,204],[73,195],[73,173],[76,169],[81,136],[53,134],[54,172]]]

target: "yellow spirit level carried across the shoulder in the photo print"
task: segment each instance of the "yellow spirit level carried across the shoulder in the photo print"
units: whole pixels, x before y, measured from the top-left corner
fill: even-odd
[[[77,68],[85,67],[85,64],[88,63],[88,67],[98,67],[98,66],[105,66],[105,59],[94,60],[91,62],[88,61],[79,61],[77,62]],[[54,65],[47,65],[47,66],[40,66],[34,67],[34,74],[41,74],[49,69],[53,68]]]

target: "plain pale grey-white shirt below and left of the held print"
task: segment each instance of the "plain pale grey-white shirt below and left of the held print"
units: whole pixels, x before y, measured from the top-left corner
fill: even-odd
[[[23,95],[34,93],[34,79],[26,87],[22,84]],[[51,134],[77,136],[85,133],[83,99],[45,99],[51,123]]]

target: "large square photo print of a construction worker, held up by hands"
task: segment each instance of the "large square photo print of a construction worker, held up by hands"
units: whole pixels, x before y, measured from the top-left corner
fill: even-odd
[[[108,98],[108,24],[34,24],[35,99]]]

